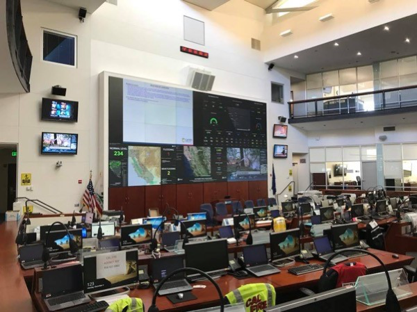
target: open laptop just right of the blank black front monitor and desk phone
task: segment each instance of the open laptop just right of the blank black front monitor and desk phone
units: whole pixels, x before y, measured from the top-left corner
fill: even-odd
[[[276,274],[281,272],[274,265],[268,263],[265,245],[250,245],[243,248],[246,270],[256,277]]]

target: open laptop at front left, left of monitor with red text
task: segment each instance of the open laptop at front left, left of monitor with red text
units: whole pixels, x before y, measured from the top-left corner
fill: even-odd
[[[68,265],[44,271],[42,298],[49,311],[90,302],[90,297],[83,290],[83,266]]]

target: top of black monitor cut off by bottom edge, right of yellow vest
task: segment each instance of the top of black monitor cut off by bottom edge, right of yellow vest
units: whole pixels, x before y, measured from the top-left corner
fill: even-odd
[[[357,311],[356,288],[336,288],[333,290],[311,295],[302,299],[296,299],[284,304],[278,304],[265,309],[265,312],[323,312]]]

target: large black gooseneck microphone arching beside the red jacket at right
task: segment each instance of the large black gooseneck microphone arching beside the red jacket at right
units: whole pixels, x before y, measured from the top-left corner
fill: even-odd
[[[354,249],[354,248],[343,249],[341,251],[335,252],[334,254],[332,254],[332,256],[330,256],[327,259],[325,263],[325,267],[323,268],[323,274],[320,277],[320,280],[318,281],[318,290],[320,293],[322,293],[323,291],[329,290],[329,277],[327,277],[326,275],[326,270],[327,270],[327,267],[329,266],[330,261],[332,261],[332,259],[338,254],[343,254],[343,252],[351,252],[351,251],[357,252],[357,249]],[[386,275],[386,281],[388,282],[388,292],[386,293],[386,299],[385,299],[386,311],[387,312],[401,312],[400,303],[398,302],[397,296],[393,292],[393,288],[391,286],[391,279],[389,278],[389,273],[388,273],[388,270],[386,270],[386,266],[384,265],[384,263],[381,261],[380,258],[375,256],[375,254],[368,252],[368,250],[361,250],[361,252],[363,252],[364,254],[368,254],[369,256],[372,256],[373,258],[375,258],[375,260],[377,260],[379,264],[382,265],[382,268],[384,269],[384,272]]]

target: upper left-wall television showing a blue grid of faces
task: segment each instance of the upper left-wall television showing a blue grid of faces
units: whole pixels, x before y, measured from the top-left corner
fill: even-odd
[[[42,120],[78,121],[78,102],[63,99],[42,99]]]

